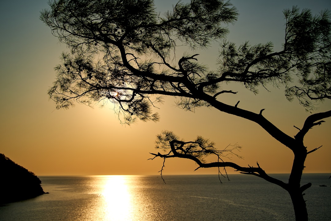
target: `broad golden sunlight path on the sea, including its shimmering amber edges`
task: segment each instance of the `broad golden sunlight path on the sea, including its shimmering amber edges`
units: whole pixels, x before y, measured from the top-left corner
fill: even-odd
[[[95,197],[85,206],[84,221],[92,220],[91,217],[93,221],[164,220],[163,199],[155,197],[155,188],[159,190],[160,186],[149,186],[154,178],[143,175],[90,177],[88,194]],[[156,183],[163,184],[160,180]]]

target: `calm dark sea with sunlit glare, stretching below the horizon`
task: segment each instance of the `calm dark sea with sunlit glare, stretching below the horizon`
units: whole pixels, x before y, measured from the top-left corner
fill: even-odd
[[[287,181],[288,174],[273,174]],[[331,220],[330,174],[304,174],[309,220]],[[295,220],[289,194],[252,175],[40,176],[41,196],[0,206],[1,221]],[[321,187],[325,185],[326,187]]]

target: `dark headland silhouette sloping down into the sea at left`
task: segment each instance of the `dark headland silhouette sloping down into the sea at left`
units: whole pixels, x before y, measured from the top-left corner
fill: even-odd
[[[44,194],[32,172],[0,153],[0,203],[15,202]]]

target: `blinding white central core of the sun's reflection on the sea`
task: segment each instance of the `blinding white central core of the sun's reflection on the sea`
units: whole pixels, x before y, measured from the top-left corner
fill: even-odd
[[[104,176],[102,187],[102,205],[99,209],[102,220],[133,220],[133,197],[127,176]],[[101,214],[99,214],[101,215]]]

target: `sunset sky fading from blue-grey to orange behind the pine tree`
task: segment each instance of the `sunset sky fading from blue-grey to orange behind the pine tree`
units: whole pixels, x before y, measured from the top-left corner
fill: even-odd
[[[177,1],[157,0],[158,11],[165,12]],[[230,27],[230,41],[252,44],[273,41],[281,47],[284,38],[282,10],[298,5],[318,13],[331,9],[330,1],[232,1],[238,8],[238,22]],[[256,166],[258,161],[267,173],[289,173],[292,152],[271,138],[257,124],[210,108],[195,113],[175,107],[169,97],[156,110],[158,123],[137,122],[121,125],[111,107],[100,109],[77,104],[69,110],[56,110],[47,90],[55,80],[54,67],[66,46],[59,44],[50,28],[39,20],[39,12],[47,8],[47,0],[0,0],[0,153],[36,175],[117,175],[158,174],[162,159],[147,160],[155,152],[155,136],[172,130],[185,140],[197,135],[216,142],[220,149],[238,143],[244,159],[232,161],[241,166]],[[217,44],[199,52],[199,62],[214,67]],[[181,55],[180,55],[181,56]],[[259,112],[290,136],[302,127],[309,113],[297,100],[288,102],[284,88],[260,90],[259,95],[239,85],[224,89],[239,91],[228,95],[225,102]],[[319,111],[330,110],[325,102]],[[323,145],[308,155],[306,173],[331,173],[331,118],[313,128],[305,138],[308,150]],[[184,159],[166,160],[164,174],[217,174],[217,168],[199,169]],[[229,172],[233,171],[228,169]]]

